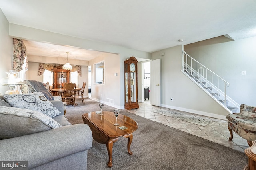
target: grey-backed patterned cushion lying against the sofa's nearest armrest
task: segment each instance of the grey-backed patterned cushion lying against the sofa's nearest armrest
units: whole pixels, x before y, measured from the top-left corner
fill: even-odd
[[[62,127],[52,118],[28,109],[0,106],[0,138],[8,139]]]

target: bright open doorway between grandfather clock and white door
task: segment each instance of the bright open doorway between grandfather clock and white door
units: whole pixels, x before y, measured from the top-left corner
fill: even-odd
[[[143,63],[144,78],[143,90],[144,103],[150,104],[150,61]]]

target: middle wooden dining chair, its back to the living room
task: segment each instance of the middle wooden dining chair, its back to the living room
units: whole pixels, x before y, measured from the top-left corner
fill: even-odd
[[[67,104],[72,104],[74,107],[76,100],[76,83],[64,83],[64,92],[62,93],[62,100]]]

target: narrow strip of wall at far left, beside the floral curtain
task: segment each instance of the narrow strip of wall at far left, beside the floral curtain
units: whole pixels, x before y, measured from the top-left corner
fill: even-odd
[[[0,79],[7,77],[5,72],[12,70],[12,44],[13,40],[9,37],[9,23],[0,9]],[[8,86],[0,86],[0,92],[4,94],[9,90]]]

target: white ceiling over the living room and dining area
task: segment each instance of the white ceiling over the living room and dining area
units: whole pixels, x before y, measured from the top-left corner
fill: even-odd
[[[1,0],[0,8],[9,23],[146,52],[221,35],[256,36],[256,0]],[[74,51],[70,58],[84,60],[101,55],[40,42],[25,45],[28,55],[66,57],[63,53]]]

